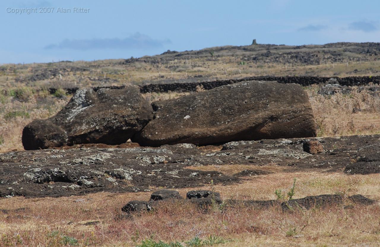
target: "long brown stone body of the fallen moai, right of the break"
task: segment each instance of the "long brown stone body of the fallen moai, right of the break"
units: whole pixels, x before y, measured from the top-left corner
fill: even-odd
[[[152,104],[154,119],[132,140],[144,146],[314,137],[307,94],[296,84],[245,81]]]

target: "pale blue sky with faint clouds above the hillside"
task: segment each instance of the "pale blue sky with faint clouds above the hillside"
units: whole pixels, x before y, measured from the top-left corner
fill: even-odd
[[[52,13],[39,13],[44,7]],[[60,13],[65,9],[71,13]],[[253,38],[289,45],[380,42],[379,12],[375,0],[2,0],[0,64],[141,57],[247,45]]]

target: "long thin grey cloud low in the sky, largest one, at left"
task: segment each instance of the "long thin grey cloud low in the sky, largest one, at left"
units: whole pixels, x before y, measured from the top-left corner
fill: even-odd
[[[59,44],[49,44],[44,49],[72,49],[72,50],[93,50],[93,49],[152,49],[161,48],[164,44],[170,44],[169,39],[152,39],[147,35],[135,33],[124,39],[65,39]]]

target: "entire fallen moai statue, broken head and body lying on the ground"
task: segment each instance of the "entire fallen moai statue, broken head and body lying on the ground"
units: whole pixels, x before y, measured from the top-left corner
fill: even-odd
[[[22,143],[32,150],[117,145],[131,138],[157,147],[315,135],[312,109],[300,85],[244,81],[152,105],[138,87],[80,89],[57,115],[28,124]]]

